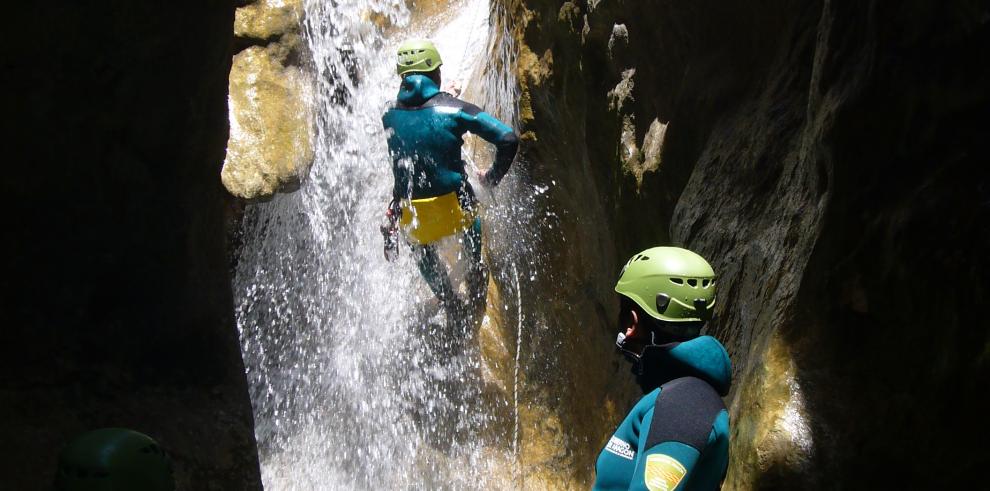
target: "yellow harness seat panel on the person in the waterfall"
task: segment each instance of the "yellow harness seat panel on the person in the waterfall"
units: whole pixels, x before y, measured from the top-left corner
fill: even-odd
[[[461,208],[457,193],[450,192],[433,198],[403,200],[399,225],[410,243],[427,245],[466,230],[474,217],[475,213]]]

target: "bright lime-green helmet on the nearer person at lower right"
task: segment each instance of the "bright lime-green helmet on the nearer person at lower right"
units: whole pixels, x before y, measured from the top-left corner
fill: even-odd
[[[626,263],[615,291],[655,319],[707,321],[715,308],[715,271],[687,249],[654,247]]]

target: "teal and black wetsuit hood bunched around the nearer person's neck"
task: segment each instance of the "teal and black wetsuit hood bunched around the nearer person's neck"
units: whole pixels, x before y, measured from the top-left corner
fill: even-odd
[[[697,377],[708,382],[719,395],[729,393],[732,362],[722,343],[711,336],[690,341],[647,346],[633,365],[636,382],[649,392],[680,377]]]

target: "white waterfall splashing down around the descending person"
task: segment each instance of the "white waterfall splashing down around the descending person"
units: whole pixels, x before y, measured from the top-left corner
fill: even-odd
[[[438,28],[415,34],[437,42],[445,79],[459,79],[466,99],[512,121],[513,48],[490,13],[487,0],[452,2],[447,17],[424,23]],[[382,258],[391,172],[380,116],[396,89],[392,49],[414,35],[412,19],[401,0],[306,7],[316,163],[297,193],[248,208],[235,278],[268,489],[509,485],[499,479],[515,465],[512,383],[500,387],[477,336],[448,355],[450,329],[408,249],[397,264]],[[465,157],[475,154],[491,160]],[[509,266],[524,279],[540,269],[525,226],[553,219],[536,211],[540,192],[524,170],[517,163],[495,196],[480,193],[498,302],[489,308],[505,322],[520,307],[517,294],[497,300],[500,288],[518,293]],[[483,329],[493,322],[486,315]]]

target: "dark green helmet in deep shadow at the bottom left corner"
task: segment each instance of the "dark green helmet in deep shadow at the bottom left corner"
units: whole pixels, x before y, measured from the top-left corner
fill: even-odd
[[[172,466],[151,437],[124,428],[77,436],[58,458],[55,491],[174,491]]]

